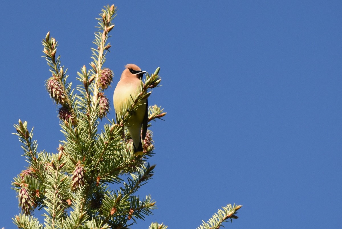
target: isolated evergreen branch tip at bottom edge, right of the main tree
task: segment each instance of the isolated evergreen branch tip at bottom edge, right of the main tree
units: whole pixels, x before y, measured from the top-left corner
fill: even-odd
[[[208,222],[202,220],[202,225],[200,225],[197,229],[216,229],[222,226],[223,222],[232,222],[232,219],[237,219],[238,217],[235,215],[237,210],[240,209],[242,205],[231,205],[227,204],[227,206],[219,209],[217,213],[215,213]]]

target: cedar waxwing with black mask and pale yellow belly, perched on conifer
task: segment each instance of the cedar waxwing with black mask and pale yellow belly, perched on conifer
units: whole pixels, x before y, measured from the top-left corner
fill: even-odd
[[[121,116],[127,112],[133,104],[133,99],[142,90],[142,77],[145,71],[135,64],[127,64],[121,74],[120,81],[116,85],[113,95],[113,104],[115,108],[115,114],[117,122],[121,119]],[[147,98],[141,100],[139,107],[131,114],[127,120],[125,126],[127,127],[134,146],[134,155],[143,154],[142,140],[145,140],[147,131],[147,119],[148,119],[148,106]],[[142,135],[141,128],[143,129]]]

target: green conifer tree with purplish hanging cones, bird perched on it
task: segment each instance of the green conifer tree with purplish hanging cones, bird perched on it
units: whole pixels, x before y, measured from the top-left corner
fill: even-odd
[[[127,130],[124,139],[121,132],[139,102],[160,83],[159,68],[153,74],[146,73],[141,93],[132,98],[132,106],[127,107],[119,123],[107,119],[103,128],[99,127],[109,111],[106,89],[112,82],[113,72],[103,65],[111,47],[107,39],[114,27],[116,11],[114,5],[102,9],[93,41],[93,61],[89,70],[83,65],[77,73],[80,83],[75,88],[68,81],[61,56],[56,54],[55,38],[48,32],[42,41],[43,57],[51,73],[46,87],[57,104],[65,139],[60,141],[56,153],[38,152],[33,128],[29,131],[27,122],[20,119],[14,125],[29,164],[12,182],[22,209],[22,213],[13,218],[18,228],[130,228],[139,222],[137,219],[152,214],[156,207],[150,195],[144,198],[136,195],[154,174],[155,165],[148,163],[154,150],[152,132],[147,131],[144,153],[139,156],[133,154],[133,142]],[[166,113],[154,105],[148,108],[148,115],[150,122],[161,119]],[[240,207],[228,204],[198,228],[219,228],[223,222],[237,218],[235,214]],[[32,216],[33,212],[42,214],[44,222]],[[166,225],[157,222],[149,227],[165,228]]]

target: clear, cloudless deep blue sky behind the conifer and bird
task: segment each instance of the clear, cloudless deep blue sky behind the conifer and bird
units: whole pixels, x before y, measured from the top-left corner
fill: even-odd
[[[13,123],[34,126],[39,150],[63,139],[41,40],[51,31],[75,81],[91,61],[94,18],[113,3],[109,98],[125,64],[160,67],[149,103],[168,112],[153,123],[156,173],[141,190],[159,208],[133,228],[196,228],[227,203],[243,207],[226,228],[341,227],[340,0],[70,2],[0,9],[0,228],[15,228],[10,183],[27,166]]]

